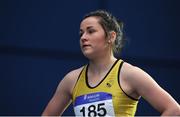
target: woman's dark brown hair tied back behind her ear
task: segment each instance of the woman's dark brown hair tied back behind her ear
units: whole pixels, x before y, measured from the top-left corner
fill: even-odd
[[[91,16],[97,16],[100,18],[99,23],[103,27],[106,37],[109,36],[110,31],[116,32],[116,39],[113,44],[113,52],[118,53],[122,50],[125,42],[124,34],[123,34],[123,22],[117,20],[111,13],[105,10],[96,10],[90,12],[84,16],[83,19],[86,19]]]

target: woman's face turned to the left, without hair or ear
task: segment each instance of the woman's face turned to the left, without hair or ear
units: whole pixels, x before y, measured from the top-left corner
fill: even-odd
[[[80,24],[80,46],[88,58],[100,56],[109,49],[105,31],[98,21],[98,17],[91,16]]]

